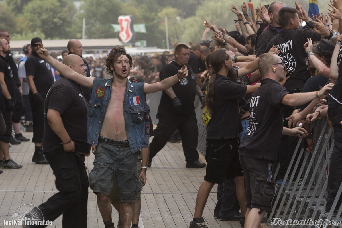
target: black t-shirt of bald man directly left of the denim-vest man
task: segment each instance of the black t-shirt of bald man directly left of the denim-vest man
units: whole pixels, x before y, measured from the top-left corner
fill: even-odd
[[[89,153],[91,145],[87,143],[88,104],[79,85],[63,76],[51,86],[45,99],[45,111],[55,109],[61,113],[65,130],[75,143],[78,152]],[[61,139],[52,131],[45,113],[43,137],[44,152],[63,147]]]

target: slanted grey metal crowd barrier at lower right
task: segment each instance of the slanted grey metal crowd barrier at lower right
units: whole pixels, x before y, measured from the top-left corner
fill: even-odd
[[[334,215],[333,211],[342,192],[342,185],[330,213],[325,213],[328,166],[334,144],[333,131],[327,120],[319,120],[313,124],[313,132],[315,146],[312,153],[306,152],[305,149],[298,151],[300,139],[295,149],[298,151],[298,155],[297,152],[294,153],[285,174],[284,180],[289,178],[288,184],[283,181],[281,185],[276,184],[275,186],[276,195],[273,209],[267,215],[269,227],[318,227],[315,221],[320,219],[323,221],[321,227],[337,227],[329,225],[329,221],[341,220],[342,207],[339,208],[337,215]],[[297,169],[299,169],[299,173],[294,179],[294,171]],[[292,181],[294,181],[294,186],[290,184]],[[275,219],[282,222],[287,221],[287,223],[276,224],[274,223]],[[292,223],[289,223],[290,221]],[[300,221],[306,222],[299,223]],[[342,227],[341,223],[338,227]]]

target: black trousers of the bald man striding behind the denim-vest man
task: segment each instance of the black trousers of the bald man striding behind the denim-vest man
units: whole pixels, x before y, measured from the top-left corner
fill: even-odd
[[[76,153],[63,149],[44,155],[56,176],[59,191],[38,206],[44,220],[53,221],[63,214],[63,228],[87,227],[89,185],[84,162]]]

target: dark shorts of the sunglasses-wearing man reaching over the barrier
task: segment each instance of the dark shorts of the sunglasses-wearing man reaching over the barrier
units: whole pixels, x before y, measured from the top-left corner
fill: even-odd
[[[246,207],[272,211],[274,197],[274,161],[240,155],[245,175]]]

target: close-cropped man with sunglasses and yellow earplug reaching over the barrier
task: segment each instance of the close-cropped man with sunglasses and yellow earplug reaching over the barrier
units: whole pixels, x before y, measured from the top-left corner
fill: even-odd
[[[332,89],[333,83],[320,91],[289,93],[279,84],[285,79],[284,64],[275,53],[265,53],[258,59],[262,76],[261,86],[254,92],[250,104],[249,126],[241,140],[239,156],[245,176],[246,218],[245,227],[257,228],[265,212],[272,211],[274,196],[273,166],[278,154],[282,134],[302,137],[305,129],[282,126],[284,107],[305,104],[321,97]],[[267,148],[263,145],[267,144]]]

